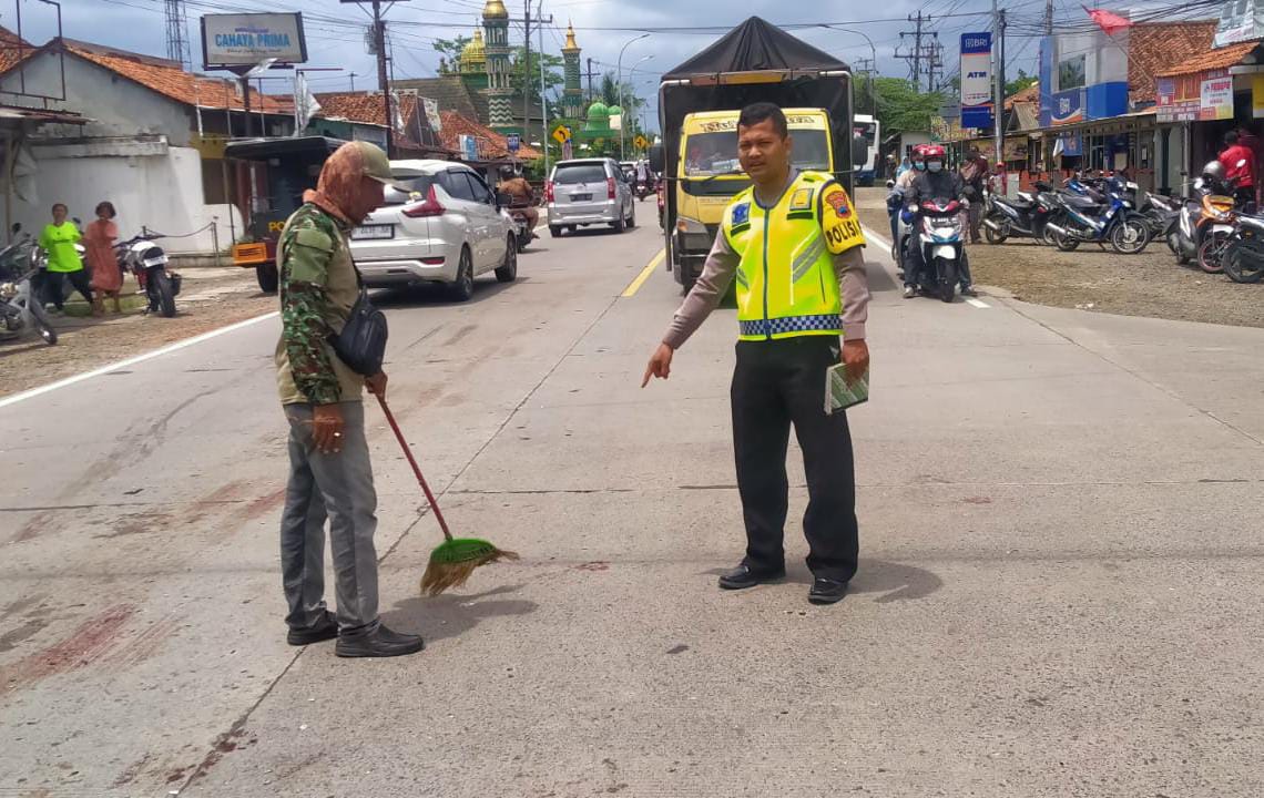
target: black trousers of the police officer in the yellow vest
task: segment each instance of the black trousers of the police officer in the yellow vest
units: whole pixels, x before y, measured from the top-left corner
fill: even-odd
[[[786,448],[794,424],[808,473],[808,568],[848,581],[860,551],[856,467],[846,413],[825,414],[825,369],[839,362],[839,340],[800,336],[739,341],[733,371],[733,448],[746,520],[746,558],[753,571],[785,563],[789,482]]]

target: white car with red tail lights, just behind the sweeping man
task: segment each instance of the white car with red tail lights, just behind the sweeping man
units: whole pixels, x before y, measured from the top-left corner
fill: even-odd
[[[513,220],[495,192],[465,164],[392,160],[397,187],[351,232],[351,255],[370,288],[446,284],[454,299],[474,293],[474,278],[518,275]]]

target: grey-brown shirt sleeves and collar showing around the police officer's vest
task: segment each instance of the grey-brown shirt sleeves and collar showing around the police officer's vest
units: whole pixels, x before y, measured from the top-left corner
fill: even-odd
[[[790,188],[798,177],[798,170],[790,170],[790,178],[785,188]],[[758,198],[756,198],[760,202]],[[780,197],[771,203],[760,202],[762,207],[775,206]],[[862,246],[853,246],[841,255],[834,255],[834,275],[838,278],[838,290],[843,298],[843,338],[858,341],[865,338],[865,322],[868,321],[868,274],[865,273],[865,256],[861,254]],[[741,260],[738,254],[729,246],[723,232],[715,236],[715,244],[707,255],[703,264],[703,273],[694,283],[693,290],[685,297],[680,309],[676,311],[667,333],[662,342],[674,350],[684,346],[689,336],[698,332],[707,317],[719,306],[720,298],[733,282],[737,274],[737,264]]]

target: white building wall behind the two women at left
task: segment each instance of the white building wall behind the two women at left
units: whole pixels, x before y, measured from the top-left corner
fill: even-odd
[[[66,203],[70,215],[86,225],[92,221],[96,205],[105,200],[119,212],[115,222],[123,237],[139,234],[142,225],[183,236],[219,216],[219,242],[226,247],[231,244],[230,213],[236,232],[240,235],[244,229],[234,206],[202,202],[202,167],[197,150],[172,146],[166,155],[49,159],[40,159],[39,149],[35,153],[38,202],[27,203],[14,197],[13,210],[13,221],[21,222],[33,235],[51,221],[54,202]],[[162,245],[177,254],[211,253],[212,241],[207,230],[192,237],[166,239]]]

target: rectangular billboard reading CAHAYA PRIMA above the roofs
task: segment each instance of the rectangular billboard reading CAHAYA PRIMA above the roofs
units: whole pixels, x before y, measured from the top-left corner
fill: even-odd
[[[306,63],[302,14],[207,14],[202,18],[202,67],[234,69],[276,58]]]

